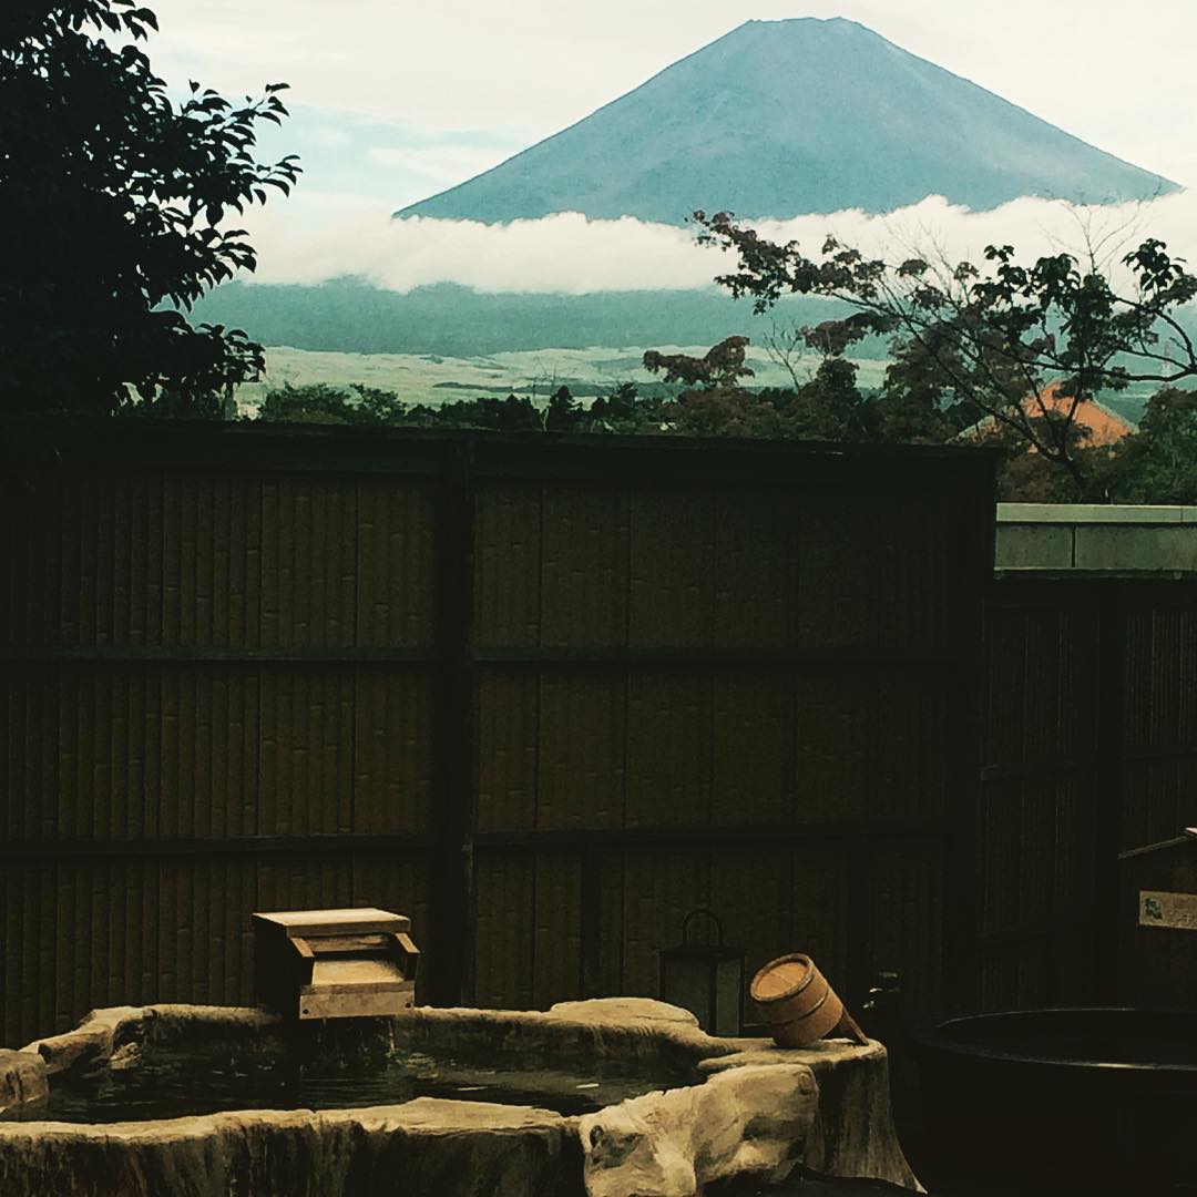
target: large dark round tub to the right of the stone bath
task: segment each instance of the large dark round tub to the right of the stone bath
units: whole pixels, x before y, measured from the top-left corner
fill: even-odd
[[[1197,1193],[1197,1014],[978,1014],[911,1047],[932,1193]]]

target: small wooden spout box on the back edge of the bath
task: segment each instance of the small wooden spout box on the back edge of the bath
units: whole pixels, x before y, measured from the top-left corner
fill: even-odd
[[[387,1017],[415,999],[411,919],[385,910],[254,915],[257,999],[288,1019]]]

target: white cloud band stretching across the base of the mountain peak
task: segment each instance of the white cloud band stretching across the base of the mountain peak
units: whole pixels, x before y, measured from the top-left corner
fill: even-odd
[[[693,227],[632,218],[589,220],[576,212],[506,225],[395,220],[373,199],[300,190],[290,201],[272,199],[243,223],[259,250],[261,282],[359,275],[393,291],[458,282],[479,291],[581,294],[704,287],[735,265],[733,257],[695,244]],[[926,255],[938,249],[952,262],[977,261],[991,243],[1013,244],[1022,261],[1078,253],[1087,237],[1108,261],[1148,236],[1183,256],[1197,247],[1197,194],[1093,208],[1023,199],[979,213],[929,196],[888,215],[838,212],[759,221],[758,227],[771,239],[797,239],[810,253],[831,232],[867,253]]]

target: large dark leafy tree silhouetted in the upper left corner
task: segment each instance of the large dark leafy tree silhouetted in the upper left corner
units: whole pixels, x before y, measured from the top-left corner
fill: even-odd
[[[235,105],[192,83],[176,103],[140,48],[154,29],[135,0],[0,6],[8,411],[108,413],[133,388],[158,411],[213,414],[214,395],[262,369],[244,333],[184,312],[255,266],[226,214],[296,181],[293,157],[253,154],[257,122],[286,115],[285,85]]]

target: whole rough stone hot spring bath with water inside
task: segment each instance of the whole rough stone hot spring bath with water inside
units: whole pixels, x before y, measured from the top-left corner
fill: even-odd
[[[638,998],[99,1010],[0,1052],[0,1110],[6,1195],[689,1197],[796,1162],[916,1186],[880,1044],[717,1039]]]

